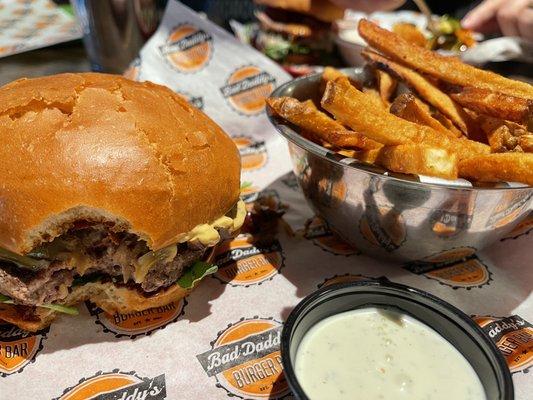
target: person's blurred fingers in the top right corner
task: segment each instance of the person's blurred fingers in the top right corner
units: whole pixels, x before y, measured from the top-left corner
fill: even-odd
[[[485,0],[461,21],[466,29],[533,41],[533,0]]]

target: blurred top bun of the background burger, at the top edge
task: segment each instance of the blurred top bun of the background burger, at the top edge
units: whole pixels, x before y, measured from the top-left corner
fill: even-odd
[[[342,19],[344,9],[329,0],[254,0],[256,4],[267,7],[296,11],[315,17],[323,22],[334,22]]]

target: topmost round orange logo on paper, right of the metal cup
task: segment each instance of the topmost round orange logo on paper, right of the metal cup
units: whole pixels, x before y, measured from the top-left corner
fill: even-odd
[[[180,72],[204,68],[213,54],[213,38],[193,24],[178,25],[159,48],[168,63]]]

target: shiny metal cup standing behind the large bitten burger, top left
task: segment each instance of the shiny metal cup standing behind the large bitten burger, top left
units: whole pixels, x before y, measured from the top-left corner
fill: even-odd
[[[122,73],[157,29],[161,0],[71,0],[94,71]]]

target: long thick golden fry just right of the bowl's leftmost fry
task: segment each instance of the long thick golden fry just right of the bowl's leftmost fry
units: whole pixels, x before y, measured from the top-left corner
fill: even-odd
[[[375,107],[368,97],[350,85],[346,78],[338,78],[328,82],[321,104],[340,123],[386,146],[424,143],[455,152],[459,159],[490,151],[482,143],[452,139],[427,126],[398,118],[387,110]]]

